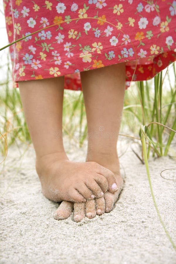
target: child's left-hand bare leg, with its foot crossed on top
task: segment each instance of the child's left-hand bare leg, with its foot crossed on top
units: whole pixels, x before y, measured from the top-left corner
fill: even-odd
[[[101,197],[115,182],[114,174],[97,163],[71,162],[64,151],[64,77],[19,82],[19,89],[43,194],[53,201]]]

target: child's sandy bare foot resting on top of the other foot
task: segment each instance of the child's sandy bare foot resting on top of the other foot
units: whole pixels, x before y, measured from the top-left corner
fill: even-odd
[[[96,162],[72,162],[65,152],[36,159],[36,171],[45,197],[61,202],[86,202],[117,189],[114,174]]]

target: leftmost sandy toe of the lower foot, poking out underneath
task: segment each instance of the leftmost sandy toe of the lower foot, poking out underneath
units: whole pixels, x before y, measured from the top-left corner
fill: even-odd
[[[54,212],[54,219],[64,220],[67,219],[73,211],[73,203],[63,201],[58,209]]]

